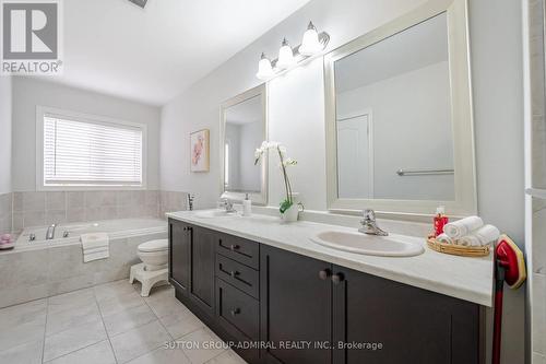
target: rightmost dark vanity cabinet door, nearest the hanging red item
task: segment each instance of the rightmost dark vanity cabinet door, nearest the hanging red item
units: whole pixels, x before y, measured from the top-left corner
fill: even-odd
[[[333,272],[334,364],[478,363],[477,305],[346,268]]]

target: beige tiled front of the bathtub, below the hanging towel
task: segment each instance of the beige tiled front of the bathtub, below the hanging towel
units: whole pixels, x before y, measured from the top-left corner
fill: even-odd
[[[80,244],[1,253],[0,307],[127,279],[140,262],[139,244],[159,238],[167,238],[166,226],[162,233],[110,239],[110,257],[87,263]]]

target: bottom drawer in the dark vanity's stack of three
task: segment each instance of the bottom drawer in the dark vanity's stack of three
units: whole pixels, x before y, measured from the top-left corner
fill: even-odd
[[[216,279],[216,313],[219,321],[235,327],[251,340],[258,340],[260,305],[257,300]]]

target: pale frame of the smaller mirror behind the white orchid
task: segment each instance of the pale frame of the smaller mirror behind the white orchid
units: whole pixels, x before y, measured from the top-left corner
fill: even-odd
[[[263,116],[263,139],[268,140],[268,86],[266,83],[262,83],[253,89],[245,91],[244,93],[234,96],[226,102],[224,102],[219,108],[219,186],[223,199],[229,199],[230,201],[242,201],[245,200],[246,192],[233,192],[225,190],[225,161],[224,161],[224,143],[225,143],[225,129],[226,129],[226,110],[240,104],[249,98],[260,96],[261,98],[261,113]],[[264,153],[261,161],[261,174],[260,174],[260,192],[259,193],[248,193],[249,198],[252,200],[252,204],[265,206],[268,204],[268,153]]]

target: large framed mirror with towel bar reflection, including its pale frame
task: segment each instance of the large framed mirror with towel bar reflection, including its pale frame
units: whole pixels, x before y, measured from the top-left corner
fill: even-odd
[[[328,204],[476,213],[465,0],[432,0],[325,56]]]

